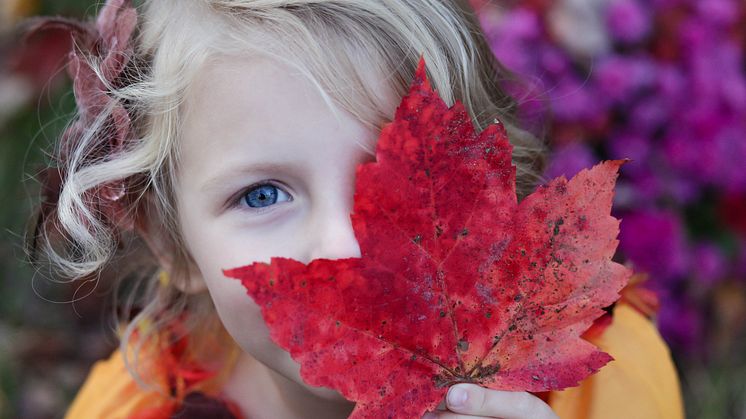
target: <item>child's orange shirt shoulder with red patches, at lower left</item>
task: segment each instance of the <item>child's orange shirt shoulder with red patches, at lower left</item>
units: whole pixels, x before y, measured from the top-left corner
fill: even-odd
[[[127,368],[120,349],[96,362],[65,419],[166,419],[176,413],[191,417],[187,414],[190,409],[216,414],[209,417],[241,418],[238,407],[221,397],[240,348],[230,347],[220,355],[208,346],[214,361],[208,366],[195,357],[199,351],[189,344],[190,337],[185,335],[174,342],[159,337],[151,345],[143,345],[137,354],[136,344],[131,344],[127,359],[132,364],[137,357],[141,380],[135,380],[130,372],[135,366]],[[226,346],[217,338],[194,339],[210,340]]]

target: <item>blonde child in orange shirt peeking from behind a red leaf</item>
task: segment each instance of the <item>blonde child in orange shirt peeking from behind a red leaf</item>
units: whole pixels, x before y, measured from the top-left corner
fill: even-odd
[[[123,280],[144,284],[130,287],[136,313],[124,310],[120,349],[94,365],[68,418],[352,411],[301,380],[222,269],[360,256],[355,168],[373,159],[420,54],[449,106],[461,101],[478,130],[495,118],[507,126],[520,197],[540,179],[544,148],[513,124],[497,86],[506,72],[466,0],[150,0],[137,11],[110,0],[95,27],[41,25],[73,33],[80,112],[44,178],[33,246],[70,277],[125,260]],[[579,387],[535,395],[462,383],[426,416],[682,417],[650,320],[625,299],[609,312],[587,339],[615,360]]]

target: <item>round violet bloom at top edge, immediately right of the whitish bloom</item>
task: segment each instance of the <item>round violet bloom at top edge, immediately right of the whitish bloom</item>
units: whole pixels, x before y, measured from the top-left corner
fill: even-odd
[[[612,0],[606,10],[611,35],[623,43],[635,43],[650,32],[652,18],[637,0]]]

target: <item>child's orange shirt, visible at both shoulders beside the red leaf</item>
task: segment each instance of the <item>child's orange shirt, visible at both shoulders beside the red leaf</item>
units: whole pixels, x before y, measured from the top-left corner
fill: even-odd
[[[679,380],[668,347],[650,320],[618,302],[611,324],[588,341],[614,360],[577,387],[546,393],[562,419],[682,419]],[[229,359],[235,360],[235,356]],[[208,380],[205,391],[219,391],[232,367]],[[96,362],[66,419],[157,419],[172,408],[168,398],[140,388],[124,366],[120,351]],[[167,416],[165,416],[167,417]]]

